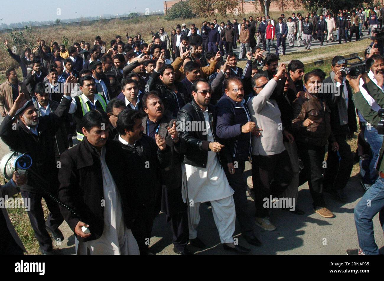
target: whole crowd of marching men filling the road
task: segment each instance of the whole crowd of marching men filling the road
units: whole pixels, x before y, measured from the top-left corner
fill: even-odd
[[[379,8],[369,20],[360,16],[364,9],[356,9],[337,16],[282,14],[276,22],[269,16],[204,21],[200,29],[182,24],[171,36],[164,28],[151,32],[149,43],[141,34],[126,34],[127,42],[116,36],[108,47],[100,36],[92,47],[80,41],[68,50],[38,38],[33,50],[26,47],[20,55],[5,41],[23,80],[9,68],[0,85],[0,137],[31,156],[34,173],[15,174],[2,196],[17,193],[18,185],[22,197],[31,199],[28,216],[43,254],[53,253],[51,236],[64,239],[58,228],[64,220],[75,234],[77,254],[151,254],[160,211],[174,252],[191,254],[188,243],[206,248],[197,233],[201,203],[212,207],[222,247],[248,253],[250,247],[233,239],[235,222],[249,245],[260,246],[253,224],[276,229],[266,200],[289,199],[295,207],[284,208],[292,216],[305,215],[299,206],[309,202],[299,200],[298,188],[308,181],[319,216],[334,217],[324,192],[348,201],[343,190],[354,155],[346,140],[358,132],[358,109],[356,157],[367,190],[355,209],[359,253],[378,254],[372,217],[381,211],[383,225],[383,137],[376,129],[384,107],[381,41],[372,38],[364,55],[369,73],[357,78],[342,74],[342,56],[333,58],[328,77],[321,69],[305,72],[300,60],[287,65],[279,60],[286,38],[289,46],[297,40],[310,49],[314,39],[333,41],[334,29],[339,43],[351,41],[353,33],[361,38],[366,23],[373,33],[381,25]],[[239,57],[233,53],[237,47]],[[237,66],[243,57],[244,69]],[[326,83],[336,90],[324,93]],[[255,214],[248,210],[247,190]],[[46,221],[42,198],[50,211]],[[364,208],[366,199],[375,207]],[[0,227],[10,237],[0,252],[23,253],[6,211]]]

